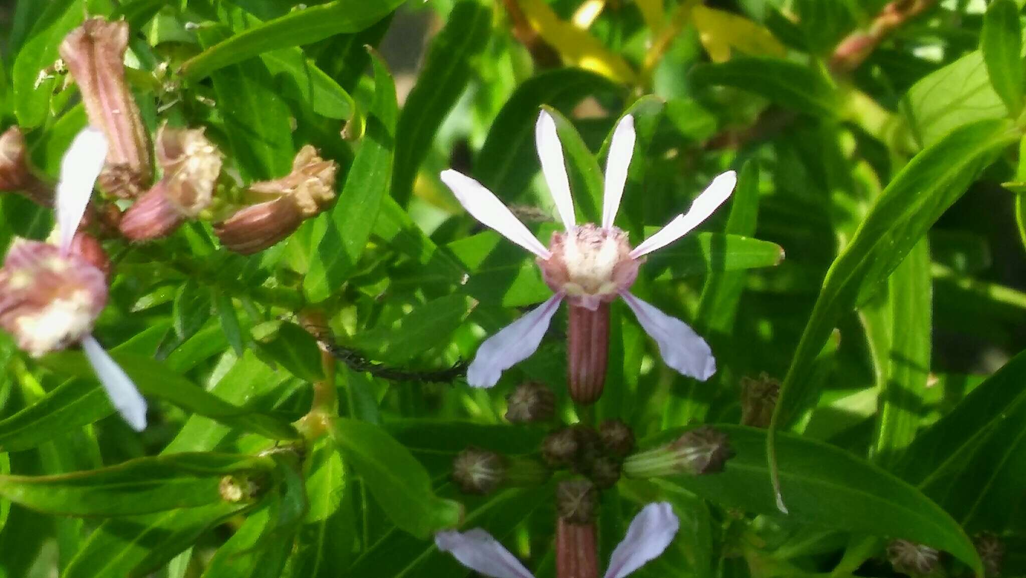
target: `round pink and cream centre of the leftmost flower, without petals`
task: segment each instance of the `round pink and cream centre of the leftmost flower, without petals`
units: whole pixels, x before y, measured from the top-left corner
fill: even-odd
[[[35,357],[81,340],[106,304],[104,272],[48,243],[15,240],[0,269],[0,326]]]

